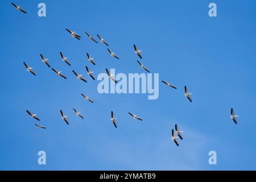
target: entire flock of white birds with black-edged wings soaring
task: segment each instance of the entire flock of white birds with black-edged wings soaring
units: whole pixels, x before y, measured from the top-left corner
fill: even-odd
[[[24,11],[20,6],[15,5],[15,3],[13,3],[13,2],[11,2],[11,4],[13,6],[15,6],[17,10],[22,11],[23,13],[27,14],[27,12]],[[81,36],[76,34],[75,31],[72,31],[68,28],[66,28],[66,30],[69,32],[69,34],[71,35],[72,38],[75,38],[77,40],[81,39]],[[85,32],[85,34],[88,36],[89,40],[92,40],[93,42],[98,43],[97,40],[95,40],[88,32]],[[100,39],[100,43],[104,43],[106,46],[109,46],[109,44],[103,38],[101,38],[100,35],[97,34],[97,37],[98,37],[98,39]],[[138,47],[135,44],[134,44],[134,50],[135,50],[134,53],[137,54],[140,59],[142,59],[142,55],[141,55],[142,50],[139,50]],[[108,48],[108,52],[110,53],[110,56],[115,57],[116,59],[119,59],[119,57],[117,55],[115,55],[115,53],[113,51],[111,51],[109,48]],[[93,58],[90,57],[89,53],[86,53],[86,55],[88,57],[88,61],[90,61],[90,63],[92,63],[93,65],[96,65]],[[68,61],[68,57],[65,57],[62,52],[60,52],[60,56],[61,56],[61,59],[65,63],[67,63],[69,66],[71,66],[71,64]],[[51,65],[49,64],[49,61],[48,61],[49,59],[46,59],[42,54],[40,54],[40,57],[42,58],[42,62],[45,63],[48,68],[51,68]],[[137,60],[137,62],[141,66],[142,69],[144,69],[146,72],[150,73],[150,71],[146,67],[144,67],[144,65],[141,63],[141,61]],[[36,76],[36,73],[33,71],[32,67],[29,67],[28,64],[25,63],[25,62],[23,62],[23,64],[26,67],[28,72],[30,72],[30,73],[32,73],[32,75]],[[93,80],[95,80],[95,77],[92,74],[93,72],[90,71],[90,69],[87,66],[85,68],[86,68],[87,74]],[[57,69],[55,69],[55,68],[51,68],[51,69],[52,69],[53,72],[56,73],[57,76],[63,77],[64,79],[67,79],[67,77],[65,77],[61,71],[57,71]],[[79,75],[74,70],[72,70],[72,72],[76,75],[77,80],[82,80],[84,82],[87,82],[85,80],[85,78],[82,77],[82,75]],[[110,75],[110,72],[109,72],[108,69],[106,69],[106,73],[108,74],[108,76],[111,80],[113,80],[115,83],[117,83],[117,80],[115,80],[114,75]],[[176,86],[170,84],[167,81],[162,80],[162,82],[170,88],[177,89]],[[184,96],[187,97],[190,102],[192,102],[192,98],[191,98],[192,93],[188,93],[187,86],[184,86],[184,91],[185,91]],[[88,96],[85,96],[84,94],[81,94],[81,95],[82,95],[82,97],[85,98],[85,100],[88,100],[89,102],[94,103]],[[76,116],[79,116],[80,118],[84,119],[84,117],[82,117],[81,113],[78,110],[76,110],[75,108],[73,108],[73,110],[75,111]],[[33,113],[31,113],[31,111],[28,111],[28,110],[27,110],[27,113],[30,115],[31,118],[34,118],[37,121],[40,121],[40,119],[36,116],[36,114],[33,114]],[[61,114],[61,118],[65,121],[65,123],[67,123],[67,125],[69,125],[69,122],[68,122],[68,119],[67,119],[68,116],[64,114],[63,110],[60,110],[60,114]],[[133,117],[134,119],[138,119],[139,121],[143,121],[142,118],[138,117],[137,115],[135,115],[133,113],[129,112],[128,114],[131,115],[131,117]],[[237,117],[239,117],[239,116],[234,114],[234,109],[232,108],[230,118],[232,118],[234,123],[236,123],[236,124],[237,124],[237,119],[236,119]],[[116,119],[117,118],[114,117],[114,112],[111,111],[111,119],[110,120],[113,122],[113,125],[114,125],[115,128],[117,128]],[[46,129],[46,127],[44,127],[42,125],[39,125],[38,123],[35,123],[35,125],[38,126],[40,129]],[[180,138],[181,140],[183,140],[183,137],[181,136],[181,133],[183,133],[183,131],[179,131],[179,128],[178,128],[177,124],[175,124],[175,130],[172,129],[171,139],[174,140],[174,142],[177,146],[179,146],[179,142],[178,142],[177,139]],[[176,134],[177,134],[178,137],[176,137]]]

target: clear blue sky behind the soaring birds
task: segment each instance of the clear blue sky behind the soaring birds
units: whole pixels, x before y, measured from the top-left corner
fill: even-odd
[[[6,170],[255,170],[256,2],[248,1],[43,1],[47,16],[38,16],[42,1],[13,1],[28,14],[1,1],[1,133],[0,169]],[[210,2],[217,17],[208,16]],[[65,28],[81,35],[72,39]],[[100,34],[104,44],[88,40],[84,31]],[[99,94],[86,75],[115,68],[141,73],[133,44],[143,49],[142,63],[160,80],[158,100],[146,94]],[[72,64],[60,59],[62,51]],[[96,66],[86,59],[95,58]],[[49,58],[56,77],[40,60]],[[37,76],[26,71],[23,61]],[[83,73],[88,83],[72,73]],[[184,85],[192,103],[184,97]],[[85,101],[86,93],[94,104]],[[73,107],[84,115],[75,116]],[[230,119],[230,108],[240,115]],[[40,124],[26,110],[38,114]],[[61,120],[59,110],[70,125]],[[110,122],[110,111],[118,128]],[[135,121],[127,112],[138,114]],[[177,123],[184,131],[180,146],[171,138]],[[38,165],[38,151],[47,165]],[[217,152],[217,165],[208,152]]]

